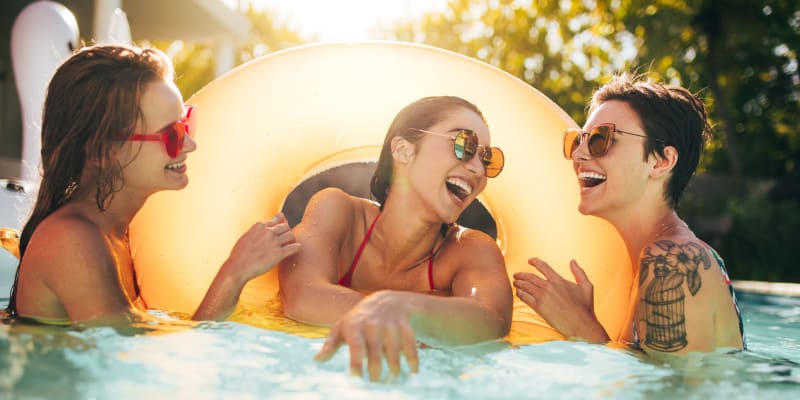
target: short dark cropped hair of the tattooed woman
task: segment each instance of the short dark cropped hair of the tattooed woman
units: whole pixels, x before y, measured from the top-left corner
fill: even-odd
[[[645,134],[660,139],[645,141],[645,160],[653,154],[664,157],[664,146],[678,151],[678,161],[664,189],[667,203],[678,208],[712,134],[703,101],[681,86],[661,84],[632,73],[615,75],[598,89],[592,96],[589,113],[610,100],[627,103],[639,116]]]

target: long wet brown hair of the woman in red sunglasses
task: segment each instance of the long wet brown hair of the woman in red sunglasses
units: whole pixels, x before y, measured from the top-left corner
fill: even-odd
[[[95,45],[77,50],[58,67],[42,114],[42,181],[22,229],[20,264],[36,227],[74,194],[94,193],[105,211],[123,186],[114,147],[143,122],[140,100],[149,83],[173,78],[172,64],[157,49]],[[17,267],[7,311],[16,315]]]

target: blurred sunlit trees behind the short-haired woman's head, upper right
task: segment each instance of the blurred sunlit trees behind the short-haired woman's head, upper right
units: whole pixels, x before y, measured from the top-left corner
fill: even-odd
[[[703,167],[780,177],[800,161],[799,34],[796,0],[451,0],[386,37],[495,65],[577,121],[611,73],[648,72],[706,98],[718,138]]]

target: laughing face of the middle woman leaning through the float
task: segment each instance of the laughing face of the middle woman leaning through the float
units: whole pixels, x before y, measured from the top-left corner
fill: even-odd
[[[455,222],[486,187],[485,166],[480,159],[484,147],[468,161],[456,158],[450,137],[461,129],[475,132],[480,145],[490,145],[489,128],[481,116],[472,110],[457,108],[426,129],[444,135],[423,134],[415,143],[414,155],[408,164],[412,191],[445,223]]]

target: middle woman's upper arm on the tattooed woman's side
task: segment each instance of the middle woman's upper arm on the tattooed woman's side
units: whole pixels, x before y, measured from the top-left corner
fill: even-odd
[[[468,229],[458,238],[458,269],[453,275],[453,296],[472,297],[511,323],[513,295],[503,254],[483,232]]]

